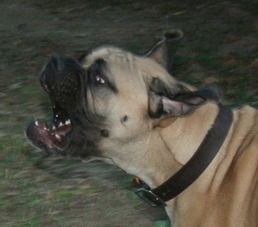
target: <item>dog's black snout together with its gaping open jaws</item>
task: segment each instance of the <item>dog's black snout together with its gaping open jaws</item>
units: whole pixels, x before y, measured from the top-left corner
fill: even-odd
[[[43,89],[52,100],[53,120],[50,124],[34,120],[26,131],[27,138],[47,153],[67,154],[72,141],[72,112],[83,69],[72,58],[53,54],[39,77]]]

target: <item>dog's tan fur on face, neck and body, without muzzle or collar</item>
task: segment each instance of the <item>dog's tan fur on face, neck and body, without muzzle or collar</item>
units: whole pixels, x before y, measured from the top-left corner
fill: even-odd
[[[103,158],[155,188],[195,153],[213,125],[218,107],[206,102],[182,118],[149,118],[149,80],[159,78],[172,91],[177,91],[178,80],[150,58],[112,47],[87,56],[83,67],[100,57],[107,61],[107,76],[118,87],[118,94],[93,103],[105,106],[97,110],[109,115],[110,136],[98,145]],[[129,116],[125,124],[120,122],[123,115]],[[167,202],[171,223],[183,227],[258,226],[257,172],[258,114],[252,107],[243,107],[234,111],[230,132],[208,169]]]

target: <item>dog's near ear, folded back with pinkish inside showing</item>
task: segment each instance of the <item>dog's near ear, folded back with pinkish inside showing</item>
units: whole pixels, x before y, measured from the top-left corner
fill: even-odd
[[[149,87],[149,116],[151,118],[183,117],[191,114],[208,100],[219,102],[221,97],[219,89],[215,86],[190,91],[182,83],[171,88],[157,80],[155,78]]]

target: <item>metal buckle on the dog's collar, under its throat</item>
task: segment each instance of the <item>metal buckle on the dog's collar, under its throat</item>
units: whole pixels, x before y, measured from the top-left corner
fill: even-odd
[[[147,204],[149,204],[152,207],[155,206],[166,206],[166,203],[160,199],[157,195],[155,195],[152,191],[146,189],[146,188],[139,188],[136,192],[136,195],[143,199]]]

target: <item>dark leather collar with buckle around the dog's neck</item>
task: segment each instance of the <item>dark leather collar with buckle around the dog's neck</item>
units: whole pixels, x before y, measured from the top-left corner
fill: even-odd
[[[157,188],[152,190],[147,187],[139,188],[136,191],[139,197],[151,206],[161,204],[166,206],[165,202],[182,193],[205,171],[222,147],[233,122],[233,112],[231,109],[221,104],[218,106],[219,113],[217,118],[193,157],[175,175]]]

